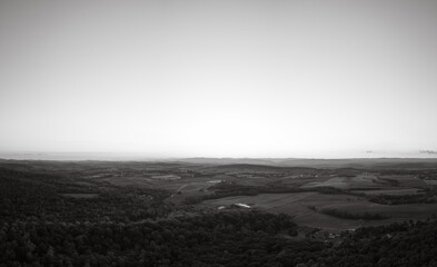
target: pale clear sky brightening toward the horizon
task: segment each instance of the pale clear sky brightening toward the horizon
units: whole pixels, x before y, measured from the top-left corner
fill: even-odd
[[[0,40],[3,152],[437,150],[434,0],[0,0]]]

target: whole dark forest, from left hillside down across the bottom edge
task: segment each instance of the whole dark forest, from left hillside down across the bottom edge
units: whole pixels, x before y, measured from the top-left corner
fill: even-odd
[[[298,237],[290,216],[0,167],[0,266],[437,266],[437,221]]]

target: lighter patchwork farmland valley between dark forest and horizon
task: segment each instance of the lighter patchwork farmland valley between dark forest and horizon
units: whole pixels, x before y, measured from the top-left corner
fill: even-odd
[[[4,160],[1,165],[30,174],[68,177],[75,186],[62,189],[60,196],[66,198],[99,198],[96,188],[99,191],[110,191],[113,187],[162,189],[169,194],[165,201],[176,207],[191,205],[195,209],[213,211],[220,207],[222,211],[241,208],[236,204],[244,204],[251,209],[290,215],[300,226],[331,231],[426,219],[437,212],[434,201],[437,197],[429,192],[434,180],[427,180],[437,171],[429,164],[421,168],[415,165],[414,169],[408,165],[389,168],[381,164],[362,168],[311,168],[179,161]],[[75,187],[88,189],[78,192]],[[400,205],[386,205],[379,199],[393,201],[390,197],[411,196],[427,196],[427,199],[407,199]],[[341,218],[326,214],[327,209],[346,215],[380,215],[384,219]]]

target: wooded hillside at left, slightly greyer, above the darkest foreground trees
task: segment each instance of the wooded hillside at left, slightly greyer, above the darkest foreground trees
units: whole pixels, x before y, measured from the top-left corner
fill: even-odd
[[[96,198],[70,198],[60,192],[95,192]],[[123,187],[86,187],[61,176],[0,168],[0,222],[40,218],[47,221],[135,221],[163,217],[173,207],[162,200],[169,191]]]

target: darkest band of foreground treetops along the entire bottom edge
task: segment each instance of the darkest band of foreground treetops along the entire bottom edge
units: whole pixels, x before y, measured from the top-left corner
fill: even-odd
[[[360,228],[332,246],[281,237],[285,215],[258,211],[125,222],[0,225],[0,266],[436,266],[437,222]]]

